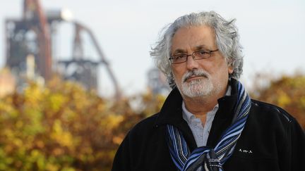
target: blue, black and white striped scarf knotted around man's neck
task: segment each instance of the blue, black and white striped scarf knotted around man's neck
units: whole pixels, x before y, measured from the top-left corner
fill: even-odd
[[[237,91],[232,125],[222,133],[215,148],[201,146],[190,153],[181,131],[173,125],[167,125],[169,152],[179,170],[193,171],[201,166],[202,170],[223,170],[222,165],[232,155],[251,107],[250,97],[240,82],[237,84]]]

